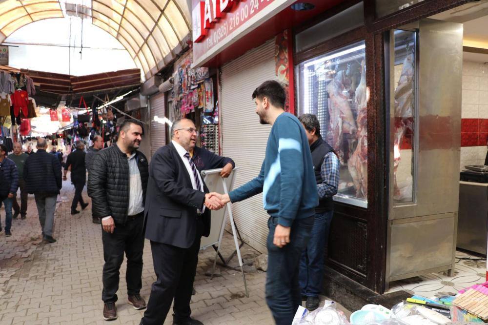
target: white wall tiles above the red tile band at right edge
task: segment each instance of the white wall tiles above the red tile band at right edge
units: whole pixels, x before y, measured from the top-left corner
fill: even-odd
[[[463,119],[488,119],[488,65],[463,61]]]

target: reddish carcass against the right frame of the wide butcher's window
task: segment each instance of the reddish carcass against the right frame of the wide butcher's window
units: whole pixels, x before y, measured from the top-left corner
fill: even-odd
[[[361,81],[356,88],[354,98],[358,110],[356,119],[358,125],[358,143],[354,153],[347,162],[347,169],[351,174],[356,196],[358,198],[367,198],[367,89],[366,89],[366,69],[365,61],[361,62]]]

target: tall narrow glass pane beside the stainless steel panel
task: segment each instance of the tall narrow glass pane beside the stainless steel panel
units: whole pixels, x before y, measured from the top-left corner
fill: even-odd
[[[393,201],[414,200],[415,175],[415,62],[416,32],[394,30],[393,102]]]

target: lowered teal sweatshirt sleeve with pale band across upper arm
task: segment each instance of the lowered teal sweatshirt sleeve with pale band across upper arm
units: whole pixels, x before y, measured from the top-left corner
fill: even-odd
[[[289,118],[276,125],[281,165],[281,193],[278,223],[290,227],[302,199],[304,163],[299,125]]]

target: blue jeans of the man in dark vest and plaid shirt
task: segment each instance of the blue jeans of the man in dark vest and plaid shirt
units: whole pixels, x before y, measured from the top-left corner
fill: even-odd
[[[302,295],[318,297],[324,278],[324,249],[329,237],[333,211],[317,213],[312,236],[300,259],[300,288]]]

